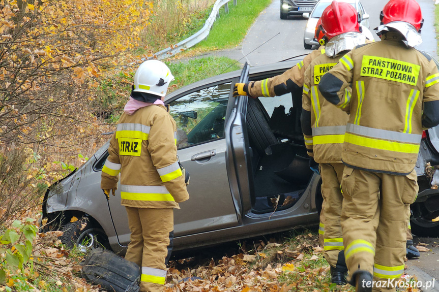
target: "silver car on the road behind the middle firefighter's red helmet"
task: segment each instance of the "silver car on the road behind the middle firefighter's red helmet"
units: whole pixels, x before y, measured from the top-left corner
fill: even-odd
[[[308,19],[305,27],[305,33],[303,34],[303,47],[307,50],[311,49],[312,46],[318,46],[317,40],[314,39],[315,26],[320,18],[321,14],[327,8],[333,0],[320,0],[317,5],[312,10],[311,14],[303,13],[303,17]],[[346,2],[354,6],[357,12],[360,14],[362,27],[369,29],[369,14],[364,10],[363,5],[359,0],[337,0],[338,2]]]

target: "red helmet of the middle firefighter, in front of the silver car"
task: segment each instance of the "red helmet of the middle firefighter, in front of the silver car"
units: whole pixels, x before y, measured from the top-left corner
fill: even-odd
[[[349,31],[360,33],[358,13],[348,3],[333,1],[323,11],[320,19],[328,40],[335,36],[349,33]]]

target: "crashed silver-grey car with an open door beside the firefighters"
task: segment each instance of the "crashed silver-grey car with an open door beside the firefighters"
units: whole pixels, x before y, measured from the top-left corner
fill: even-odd
[[[309,169],[300,126],[302,92],[232,97],[236,82],[279,75],[297,62],[245,66],[243,72],[208,78],[166,96],[178,128],[178,157],[191,175],[190,199],[174,210],[175,251],[318,225],[321,179]],[[100,189],[108,145],[45,194],[45,229],[63,230],[68,247],[103,245],[124,253],[129,243],[120,191],[107,206]],[[436,127],[424,132],[416,163],[420,192],[411,225],[419,236],[439,236],[439,191],[430,185],[438,150]]]

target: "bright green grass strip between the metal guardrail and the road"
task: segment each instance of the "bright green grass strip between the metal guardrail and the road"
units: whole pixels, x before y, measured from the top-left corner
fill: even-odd
[[[238,0],[238,5],[233,6],[230,1],[229,13],[225,13],[224,7],[220,9],[220,18],[215,21],[209,37],[196,45],[195,49],[208,51],[236,47],[245,38],[256,17],[270,3],[271,0]]]

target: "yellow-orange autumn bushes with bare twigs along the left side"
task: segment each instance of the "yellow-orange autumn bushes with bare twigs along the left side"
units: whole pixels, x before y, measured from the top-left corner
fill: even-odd
[[[78,153],[90,155],[107,139],[90,104],[115,70],[132,70],[152,9],[142,0],[0,1],[2,161],[14,149],[35,153],[41,159],[28,174],[50,183],[62,170],[56,161],[79,164]]]

